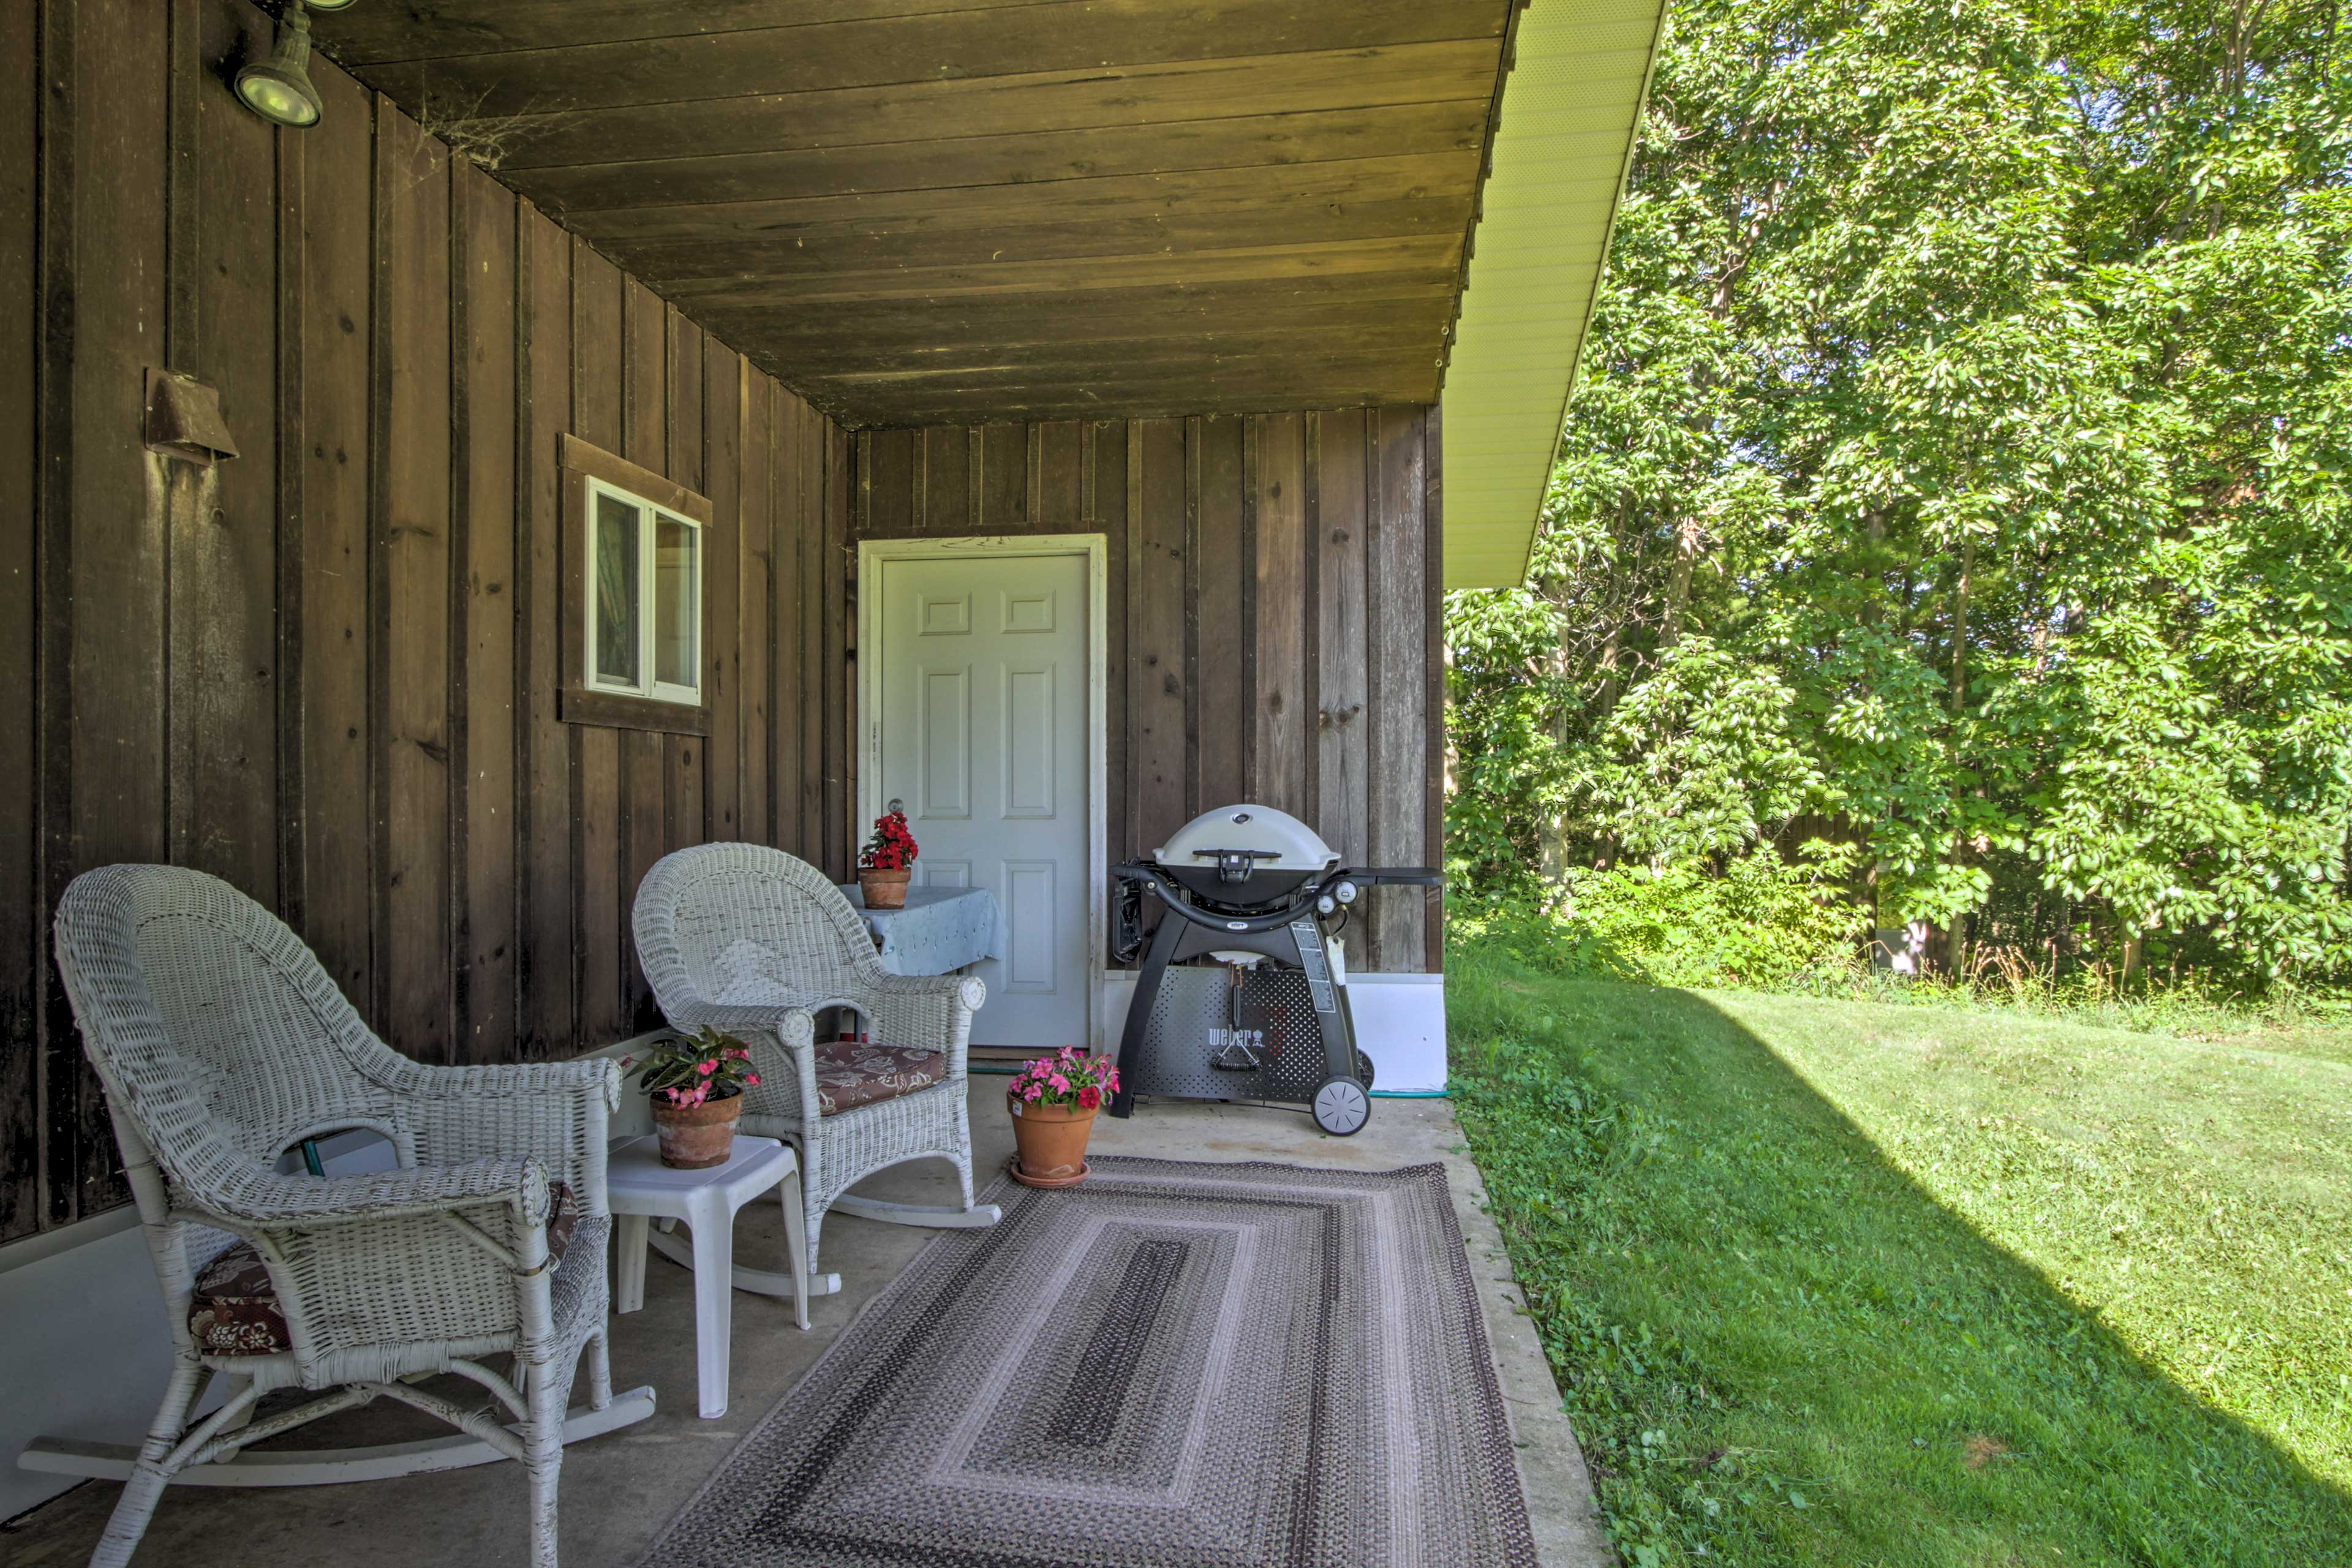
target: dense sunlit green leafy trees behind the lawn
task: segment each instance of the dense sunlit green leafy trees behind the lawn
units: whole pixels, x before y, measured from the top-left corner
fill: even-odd
[[[1677,5],[1456,872],[2352,978],[2347,261],[2331,2]]]

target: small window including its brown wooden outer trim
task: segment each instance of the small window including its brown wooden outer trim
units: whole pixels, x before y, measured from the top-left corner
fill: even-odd
[[[703,693],[703,529],[710,501],[567,435],[567,724],[710,733]]]

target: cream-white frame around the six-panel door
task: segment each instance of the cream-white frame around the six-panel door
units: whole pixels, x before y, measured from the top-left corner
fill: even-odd
[[[985,555],[1087,557],[1087,1039],[1103,1048],[1103,952],[1110,940],[1110,538],[1105,534],[990,534],[969,538],[858,541],[858,729],[866,766],[858,769],[858,820],[882,816],[882,562],[924,562]],[[863,835],[858,835],[863,842]]]

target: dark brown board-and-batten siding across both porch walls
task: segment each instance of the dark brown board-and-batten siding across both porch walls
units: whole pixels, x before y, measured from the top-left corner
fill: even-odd
[[[1115,853],[1258,797],[1435,858],[1432,414],[849,435],[332,63],[261,125],[266,49],[242,0],[0,7],[0,1241],[122,1201],[49,961],[87,867],[226,877],[447,1063],[652,1023],[673,846],[847,875],[858,531],[1108,534]],[[141,449],[158,364],[238,458]],[[708,736],[557,717],[564,435],[713,503]],[[1378,898],[1357,966],[1435,966]]]

